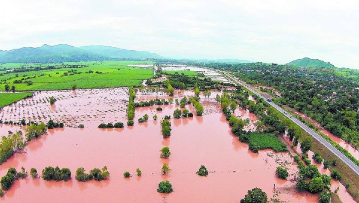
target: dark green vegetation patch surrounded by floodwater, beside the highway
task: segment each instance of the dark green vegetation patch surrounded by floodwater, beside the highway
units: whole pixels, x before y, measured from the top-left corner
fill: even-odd
[[[288,149],[280,139],[272,133],[250,133],[249,142],[256,143],[260,149],[273,149],[275,152],[286,152]]]

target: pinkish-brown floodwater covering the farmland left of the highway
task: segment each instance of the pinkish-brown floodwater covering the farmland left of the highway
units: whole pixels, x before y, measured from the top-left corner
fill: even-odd
[[[106,90],[108,92],[104,93]],[[76,107],[81,111],[107,111],[108,116],[98,115],[81,120],[82,112],[77,112],[78,117],[74,117],[71,122],[65,119],[64,121],[68,122],[68,125],[82,122],[85,124],[84,129],[66,126],[62,129],[49,129],[47,134],[29,142],[24,149],[26,153],[15,153],[0,165],[1,176],[6,174],[9,167],[20,170],[22,166],[27,171],[35,167],[41,174],[46,166],[58,165],[60,168],[69,168],[72,173],[72,178],[66,182],[31,177],[16,180],[1,198],[4,202],[239,202],[247,190],[255,187],[264,190],[269,200],[316,202],[318,199],[317,195],[299,193],[295,188],[297,165],[289,153],[274,153],[271,150],[253,153],[248,149],[248,144],[239,142],[225,120],[220,104],[214,99],[220,92],[213,92],[209,98],[200,94],[200,102],[205,107],[203,116],[171,119],[172,131],[167,139],[162,137],[160,120],[154,121],[152,116],[157,114],[159,119],[164,115],[172,116],[173,111],[180,108],[175,104],[160,105],[162,111],[157,111],[157,106],[139,107],[135,111],[134,126],[99,129],[98,124],[103,122],[125,123],[128,98],[126,88],[98,90],[96,94],[92,91],[76,91],[76,97],[73,91],[56,93],[42,92],[31,99],[36,101],[49,95],[56,98],[64,96],[66,99],[56,102],[58,111],[66,110],[69,115],[76,115],[76,108],[67,104],[76,100],[79,102]],[[100,96],[95,98],[95,95]],[[175,91],[174,99],[193,95],[192,91]],[[135,101],[154,98],[168,97],[166,94],[137,93]],[[21,113],[25,109],[34,108],[29,103],[26,105],[26,102],[29,101],[15,103],[12,106],[13,111],[16,108],[16,112],[23,115]],[[49,108],[46,111],[49,114],[54,111],[47,102],[41,105],[38,107],[44,111]],[[9,108],[4,108],[3,111],[10,111]],[[186,105],[185,108],[195,112],[192,105]],[[137,123],[137,119],[144,114],[149,115],[149,121]],[[254,123],[258,119],[254,114],[242,109],[237,109],[234,114],[249,119],[246,128],[255,130]],[[3,115],[10,116],[7,113]],[[50,115],[52,116],[54,115]],[[40,119],[46,121],[47,117]],[[8,130],[15,132],[21,128],[15,125],[0,125],[2,135]],[[159,158],[159,149],[164,146],[171,149],[171,156],[167,159]],[[172,169],[168,175],[162,175],[160,172],[163,163],[168,163]],[[81,183],[74,178],[78,167],[84,167],[88,172],[94,167],[102,168],[105,165],[110,172],[107,180]],[[207,177],[195,173],[201,165],[205,165],[209,170]],[[276,177],[275,170],[279,165],[288,169],[287,180]],[[142,171],[141,177],[135,175],[137,167]],[[130,178],[123,177],[125,171],[131,173]],[[172,193],[160,194],[156,191],[158,183],[163,180],[171,182],[174,190]]]

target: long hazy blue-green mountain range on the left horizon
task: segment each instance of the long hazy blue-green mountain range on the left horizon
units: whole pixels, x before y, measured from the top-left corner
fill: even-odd
[[[66,44],[0,51],[0,63],[61,63],[113,59],[158,59],[161,57],[158,54],[145,51],[125,50],[107,46],[75,47]]]

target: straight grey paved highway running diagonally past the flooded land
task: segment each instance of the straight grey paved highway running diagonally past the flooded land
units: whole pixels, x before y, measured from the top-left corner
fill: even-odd
[[[246,84],[244,84],[241,80],[239,80],[237,77],[234,77],[232,75],[229,75],[227,72],[225,71],[220,71],[221,73],[223,73],[225,76],[227,76],[228,78],[234,80],[235,82],[241,84],[243,87],[247,88],[248,90],[250,90],[251,92],[257,94],[257,96],[263,98],[265,101],[267,101],[260,93],[258,93],[257,91],[255,91],[254,89],[250,88],[249,86],[247,86]],[[325,146],[326,148],[328,148],[332,153],[335,154],[335,156],[337,156],[340,160],[342,160],[346,165],[348,165],[357,175],[359,175],[359,166],[356,165],[353,161],[351,161],[348,157],[346,157],[343,153],[341,153],[337,148],[335,148],[334,146],[332,146],[326,139],[322,138],[320,135],[318,135],[316,132],[314,132],[314,130],[312,130],[311,128],[309,128],[306,124],[302,123],[300,120],[296,119],[295,117],[291,116],[290,114],[288,114],[284,109],[282,109],[280,106],[276,105],[273,102],[269,102],[267,101],[272,107],[274,107],[275,109],[277,109],[279,112],[283,113],[286,117],[288,117],[290,120],[292,120],[295,124],[299,125],[303,130],[305,130],[307,133],[309,133],[310,135],[312,135],[313,138],[315,138],[316,140],[318,140],[318,142],[322,143],[323,146]]]

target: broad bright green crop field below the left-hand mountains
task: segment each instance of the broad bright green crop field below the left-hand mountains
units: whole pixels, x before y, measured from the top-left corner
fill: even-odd
[[[17,91],[26,90],[60,90],[71,89],[75,84],[77,88],[106,88],[140,85],[144,79],[153,77],[153,69],[132,68],[130,64],[152,64],[150,61],[103,61],[103,62],[79,62],[66,64],[41,64],[48,65],[88,65],[81,68],[61,68],[51,70],[38,70],[18,73],[3,73],[0,76],[1,89],[9,84],[15,86]],[[6,64],[3,64],[3,67]],[[11,64],[15,66],[14,64]],[[26,67],[36,67],[39,64]],[[76,70],[76,71],[75,71]],[[86,73],[93,71],[92,73]],[[98,72],[98,73],[96,73]],[[36,76],[36,77],[35,77]],[[14,83],[15,80],[31,81],[28,83]]]

